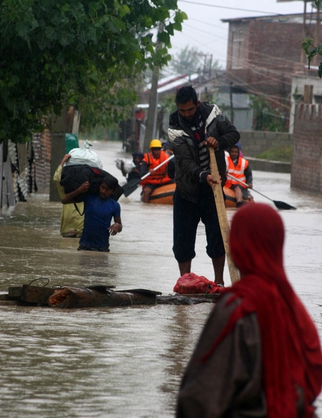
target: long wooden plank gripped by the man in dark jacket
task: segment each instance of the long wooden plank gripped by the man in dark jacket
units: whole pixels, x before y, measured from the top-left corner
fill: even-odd
[[[219,171],[218,171],[214,148],[210,147],[209,153],[210,153],[211,174],[215,179],[219,179]],[[221,231],[222,240],[223,240],[225,252],[226,252],[228,271],[231,277],[232,284],[234,284],[239,280],[239,273],[238,273],[237,267],[235,266],[233,262],[231,252],[229,250],[229,244],[228,244],[229,224],[228,224],[227,212],[225,208],[225,201],[223,197],[221,184],[220,183],[214,184],[213,191],[214,191],[215,204],[217,208],[218,220],[219,220],[219,225],[220,225],[220,231]]]

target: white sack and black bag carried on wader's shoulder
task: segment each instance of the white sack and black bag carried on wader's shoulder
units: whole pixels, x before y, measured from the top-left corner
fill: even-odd
[[[84,182],[89,182],[87,193],[98,194],[103,179],[109,177],[118,185],[111,195],[112,199],[117,201],[123,194],[122,187],[115,177],[103,170],[103,164],[98,155],[91,151],[89,146],[90,144],[86,141],[85,148],[74,148],[70,151],[72,157],[63,166],[60,185],[63,186],[65,193],[71,193]],[[76,201],[82,202],[85,195],[86,193],[79,194]]]

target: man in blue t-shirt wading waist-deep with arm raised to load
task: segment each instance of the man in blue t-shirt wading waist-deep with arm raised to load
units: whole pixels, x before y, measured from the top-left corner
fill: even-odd
[[[120,204],[111,198],[118,187],[118,180],[112,175],[103,179],[99,194],[87,193],[84,197],[84,229],[78,250],[109,252],[109,235],[122,231]],[[63,197],[63,204],[74,203],[76,196],[89,190],[89,182]],[[111,225],[112,218],[114,224]]]

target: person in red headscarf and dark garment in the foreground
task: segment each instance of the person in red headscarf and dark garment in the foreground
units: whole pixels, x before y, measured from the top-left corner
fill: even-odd
[[[321,390],[316,328],[283,267],[284,226],[265,204],[235,214],[241,280],[216,303],[183,377],[177,418],[313,418]]]

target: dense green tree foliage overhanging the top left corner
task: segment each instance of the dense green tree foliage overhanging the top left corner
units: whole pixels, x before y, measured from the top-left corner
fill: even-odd
[[[0,142],[24,142],[42,115],[68,102],[93,105],[100,92],[101,108],[110,105],[117,121],[117,105],[133,101],[124,80],[165,65],[170,37],[186,18],[177,0],[2,0]]]

